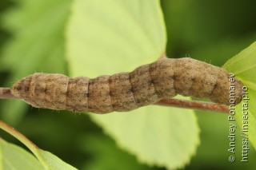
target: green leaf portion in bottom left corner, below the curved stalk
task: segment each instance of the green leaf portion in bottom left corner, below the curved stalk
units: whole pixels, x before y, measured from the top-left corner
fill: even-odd
[[[0,169],[40,170],[44,168],[30,152],[1,139]]]

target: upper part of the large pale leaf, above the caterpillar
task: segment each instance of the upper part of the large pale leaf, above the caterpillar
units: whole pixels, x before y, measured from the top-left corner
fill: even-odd
[[[130,71],[160,57],[166,46],[157,0],[77,0],[66,35],[73,76]]]

